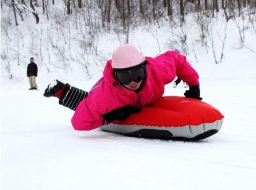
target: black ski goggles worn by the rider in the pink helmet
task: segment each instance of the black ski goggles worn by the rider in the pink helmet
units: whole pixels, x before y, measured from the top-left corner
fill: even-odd
[[[114,76],[116,80],[121,83],[128,85],[131,81],[140,82],[146,76],[145,62],[136,66],[135,68],[127,68],[125,70],[114,69]]]

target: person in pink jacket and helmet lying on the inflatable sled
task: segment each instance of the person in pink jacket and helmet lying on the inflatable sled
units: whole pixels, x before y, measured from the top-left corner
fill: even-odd
[[[57,96],[60,104],[75,110],[71,119],[74,129],[91,130],[154,103],[176,76],[190,86],[186,97],[202,99],[198,73],[184,55],[170,50],[145,57],[135,45],[123,44],[114,50],[103,76],[89,92],[55,80],[44,96]]]

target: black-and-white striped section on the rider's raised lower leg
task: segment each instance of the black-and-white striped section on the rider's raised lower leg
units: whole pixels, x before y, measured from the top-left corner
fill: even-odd
[[[71,86],[67,83],[60,97],[59,104],[75,110],[77,105],[87,97],[88,92]]]

